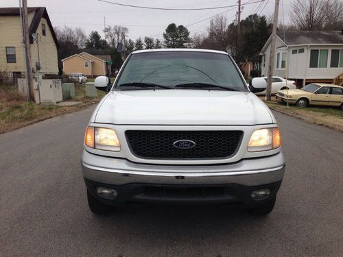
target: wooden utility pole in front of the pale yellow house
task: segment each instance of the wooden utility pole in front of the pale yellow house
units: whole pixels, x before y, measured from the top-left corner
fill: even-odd
[[[31,67],[31,51],[29,44],[29,21],[27,18],[27,0],[23,0],[23,33],[24,33],[24,44],[25,44],[25,61],[26,61],[26,76],[29,84],[29,96],[30,99],[34,100],[34,81],[32,78],[32,67]]]

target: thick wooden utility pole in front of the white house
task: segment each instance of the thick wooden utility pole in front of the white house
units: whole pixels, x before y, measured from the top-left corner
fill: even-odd
[[[272,80],[273,80],[273,69],[274,69],[274,55],[275,55],[275,41],[276,41],[276,28],[278,27],[278,14],[279,14],[279,3],[280,0],[275,0],[275,10],[274,10],[274,21],[273,21],[273,31],[272,31],[272,41],[270,42],[270,56],[269,56],[269,66],[268,66],[268,85],[267,85],[267,101],[272,98]]]

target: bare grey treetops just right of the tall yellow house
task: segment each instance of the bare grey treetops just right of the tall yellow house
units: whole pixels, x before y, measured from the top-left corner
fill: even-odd
[[[64,27],[54,27],[54,31],[58,42],[72,42],[81,49],[86,45],[87,36],[81,27],[73,28],[64,25]]]

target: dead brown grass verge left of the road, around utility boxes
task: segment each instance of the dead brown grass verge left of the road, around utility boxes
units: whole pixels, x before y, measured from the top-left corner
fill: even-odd
[[[25,97],[19,95],[14,86],[0,86],[0,134],[58,115],[83,110],[97,103],[105,93],[98,91],[97,98],[89,98],[85,95],[84,85],[77,84],[75,95],[75,99],[71,100],[82,103],[75,106],[38,105],[25,101]]]

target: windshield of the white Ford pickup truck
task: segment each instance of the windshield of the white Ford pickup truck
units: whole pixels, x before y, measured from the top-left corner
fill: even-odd
[[[155,88],[216,88],[247,91],[235,64],[227,55],[196,51],[134,53],[117,88],[136,85]],[[146,86],[148,85],[148,86]]]

